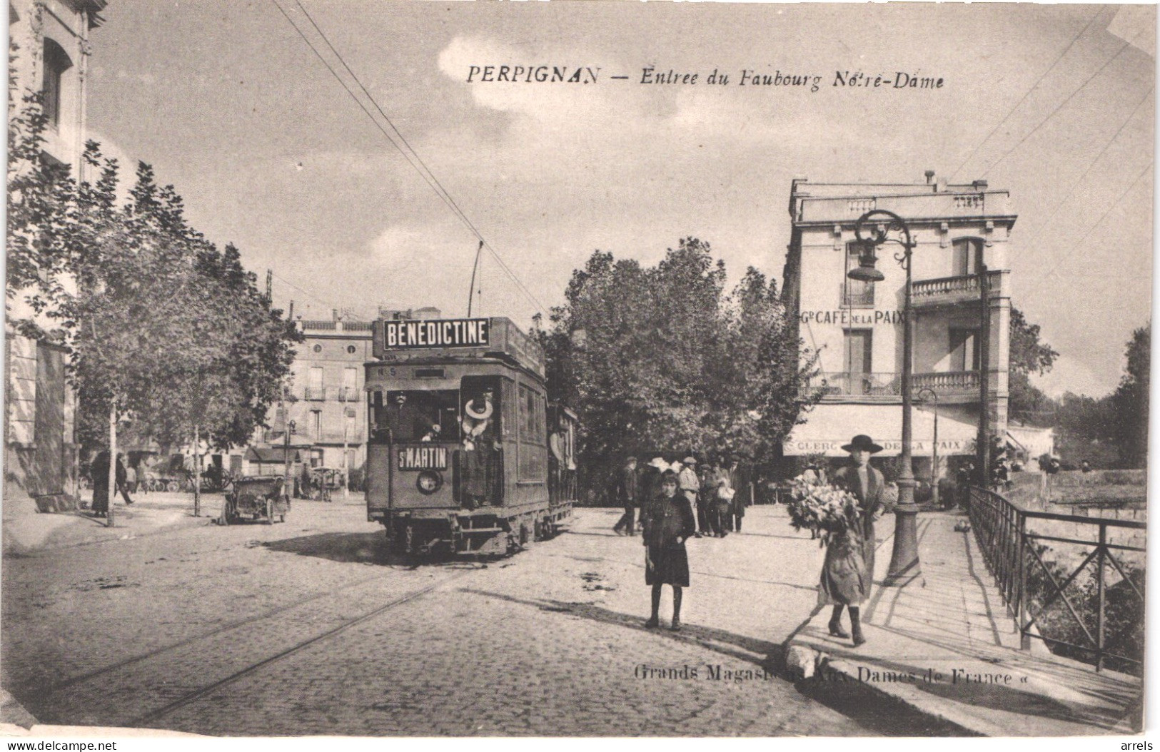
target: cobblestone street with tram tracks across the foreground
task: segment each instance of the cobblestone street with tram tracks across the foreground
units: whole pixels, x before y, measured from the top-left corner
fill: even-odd
[[[781,510],[689,542],[681,633],[643,628],[617,514],[487,564],[384,560],[355,499],[8,558],[3,685],[42,722],[210,735],[872,732],[763,672],[821,556]]]

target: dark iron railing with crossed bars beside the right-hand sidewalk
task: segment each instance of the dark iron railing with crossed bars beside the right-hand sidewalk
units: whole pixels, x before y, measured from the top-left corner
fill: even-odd
[[[1108,542],[1108,528],[1146,531],[1146,523],[1024,510],[1002,495],[981,488],[970,489],[969,511],[976,540],[987,562],[987,568],[995,577],[1008,611],[1016,619],[1024,648],[1029,647],[1030,640],[1042,640],[1049,647],[1067,648],[1068,652],[1090,656],[1096,671],[1101,671],[1108,659],[1115,660],[1119,666],[1143,667],[1139,657],[1118,655],[1108,649],[1108,581],[1105,571],[1110,564],[1111,569],[1122,577],[1121,582],[1125,584],[1123,590],[1138,599],[1140,605],[1138,613],[1143,619],[1144,593],[1140,585],[1132,579],[1112,552],[1143,553],[1145,549],[1138,546]],[[1038,527],[1036,523],[1039,521],[1064,523],[1081,531],[1090,531],[1090,535],[1086,535],[1087,540],[1046,535],[1029,531],[1028,520],[1032,520],[1035,527]],[[1063,578],[1060,584],[1060,578],[1057,575],[1066,571],[1066,568],[1060,567],[1057,562],[1052,562],[1054,567],[1049,565],[1044,557],[1045,546],[1041,541],[1078,545],[1085,548],[1090,547],[1092,550],[1083,557],[1079,567]],[[1076,608],[1075,603],[1067,593],[1067,587],[1076,582],[1080,574],[1092,562],[1095,562],[1096,589],[1094,625],[1090,623],[1093,619],[1090,614],[1087,619],[1081,615],[1081,611],[1090,609],[1090,606],[1085,608],[1085,604],[1080,604],[1080,607]],[[1029,582],[1032,581],[1037,583],[1034,587],[1029,585]],[[1075,593],[1073,592],[1073,594]],[[1049,612],[1057,601],[1064,605],[1064,611],[1057,607]],[[1057,619],[1066,614],[1064,623],[1078,627],[1076,631],[1085,637],[1085,644],[1068,642],[1059,635],[1046,634],[1050,628],[1044,625],[1043,618],[1049,613]],[[1112,635],[1112,637],[1123,637],[1140,626],[1138,620],[1121,623],[1118,634]]]

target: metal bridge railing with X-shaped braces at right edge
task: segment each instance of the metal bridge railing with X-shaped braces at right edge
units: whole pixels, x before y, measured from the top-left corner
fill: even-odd
[[[1146,523],[1025,510],[981,488],[971,488],[969,513],[1024,649],[1042,640],[1053,652],[1093,663],[1096,671],[1109,662],[1136,673],[1143,669],[1143,565],[1126,567],[1121,556],[1145,549],[1114,542],[1109,532],[1140,531],[1143,539]],[[1071,569],[1050,556],[1047,543],[1079,546],[1086,555]],[[1087,582],[1079,579],[1083,572]],[[1112,582],[1115,575],[1119,579]],[[1115,608],[1108,603],[1111,587]],[[1136,655],[1115,652],[1124,644]]]

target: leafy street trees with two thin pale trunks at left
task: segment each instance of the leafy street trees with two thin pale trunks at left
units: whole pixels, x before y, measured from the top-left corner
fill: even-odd
[[[115,457],[118,421],[131,419],[138,436],[191,443],[197,513],[201,439],[244,444],[264,424],[300,335],[258,292],[237,248],[219,253],[186,222],[181,197],[157,187],[148,165],[138,166],[130,200],[118,205],[116,161],[95,143],[84,159],[87,173],[100,175],[95,183],[29,173],[36,177],[27,196],[57,183],[51,220],[43,207],[24,214],[29,240],[17,253],[32,270],[22,272],[27,297],[59,324],[70,350],[81,437],[104,445],[107,430]]]

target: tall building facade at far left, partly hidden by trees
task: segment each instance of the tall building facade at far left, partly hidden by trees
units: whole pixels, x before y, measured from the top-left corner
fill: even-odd
[[[104,0],[12,0],[8,34],[15,108],[42,95],[44,152],[80,175],[85,147],[85,78],[89,31],[101,23]],[[67,283],[67,280],[65,280]],[[78,447],[75,395],[65,380],[65,352],[51,342],[20,336],[13,319],[36,316],[20,291],[5,320],[5,512],[75,509]]]

